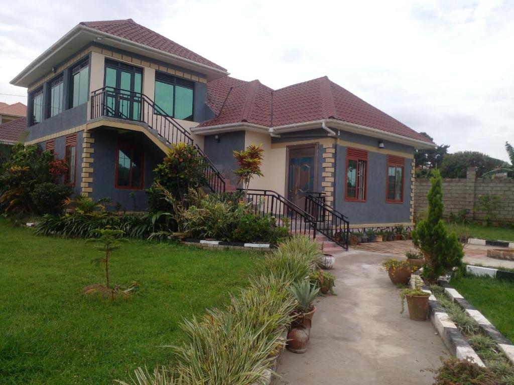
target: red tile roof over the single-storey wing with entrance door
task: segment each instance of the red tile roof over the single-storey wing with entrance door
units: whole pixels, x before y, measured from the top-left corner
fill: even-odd
[[[278,90],[258,80],[225,76],[208,83],[207,102],[216,118],[200,124],[248,122],[266,127],[335,119],[432,143],[425,136],[323,76]]]

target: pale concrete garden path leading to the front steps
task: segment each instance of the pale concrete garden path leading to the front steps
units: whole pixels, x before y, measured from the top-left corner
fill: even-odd
[[[380,272],[387,256],[350,251],[336,256],[337,296],[316,303],[307,352],[284,351],[274,385],[432,384],[448,356],[430,321],[400,314],[399,289]]]

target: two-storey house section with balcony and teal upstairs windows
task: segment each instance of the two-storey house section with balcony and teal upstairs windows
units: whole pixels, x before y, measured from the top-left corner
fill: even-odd
[[[26,144],[69,164],[77,194],[146,207],[144,189],[170,144],[203,147],[207,82],[227,70],[132,19],[84,22],[17,75],[28,88]],[[208,162],[208,161],[207,161]],[[212,189],[223,179],[208,167]],[[135,193],[131,198],[130,193]]]

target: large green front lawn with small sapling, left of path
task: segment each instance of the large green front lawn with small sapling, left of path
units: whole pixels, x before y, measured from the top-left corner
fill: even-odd
[[[0,383],[107,384],[141,365],[173,360],[182,317],[227,302],[247,283],[251,254],[127,241],[113,253],[111,282],[127,299],[85,297],[104,283],[99,252],[81,239],[36,237],[0,219]]]

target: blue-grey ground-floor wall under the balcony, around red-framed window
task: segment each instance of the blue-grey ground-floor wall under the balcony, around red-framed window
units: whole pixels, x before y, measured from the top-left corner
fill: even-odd
[[[113,204],[120,203],[127,211],[146,209],[148,207],[148,199],[146,198],[144,189],[132,190],[115,188],[116,149],[118,141],[123,140],[123,142],[143,146],[144,188],[149,188],[154,181],[155,174],[153,169],[157,164],[161,163],[164,158],[162,150],[140,132],[118,133],[116,130],[105,129],[91,132],[91,138],[95,139],[95,143],[92,146],[95,149],[95,162],[93,163],[93,183],[90,184],[90,186],[93,187],[93,194],[91,194],[91,196],[94,199],[111,198]],[[134,199],[129,196],[132,191],[136,195],[135,202]]]

